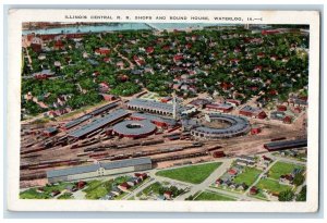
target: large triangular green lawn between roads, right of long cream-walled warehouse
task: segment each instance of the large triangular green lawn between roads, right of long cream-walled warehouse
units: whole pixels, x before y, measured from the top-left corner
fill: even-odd
[[[172,170],[158,171],[156,175],[178,179],[181,182],[199,184],[203,181],[205,181],[220,165],[221,162],[190,165]]]

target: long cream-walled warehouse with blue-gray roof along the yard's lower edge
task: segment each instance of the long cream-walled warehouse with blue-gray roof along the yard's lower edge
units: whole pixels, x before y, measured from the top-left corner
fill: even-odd
[[[47,171],[49,183],[78,181],[98,176],[122,174],[150,170],[152,160],[149,158],[128,159],[114,162],[99,162],[97,164],[75,166],[61,170]]]

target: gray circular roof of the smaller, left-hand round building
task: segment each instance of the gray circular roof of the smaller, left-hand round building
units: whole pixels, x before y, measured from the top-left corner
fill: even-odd
[[[132,127],[129,127],[132,126]],[[133,127],[137,126],[137,127]],[[153,133],[156,129],[156,125],[150,123],[148,120],[144,121],[124,121],[116,124],[112,127],[113,132],[123,135],[137,136],[143,134]]]

